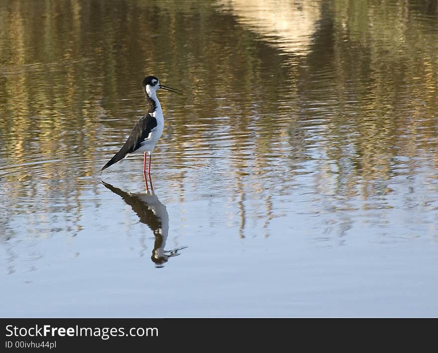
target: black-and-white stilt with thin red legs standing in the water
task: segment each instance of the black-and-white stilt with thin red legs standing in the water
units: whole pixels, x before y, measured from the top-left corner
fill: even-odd
[[[146,153],[149,154],[148,174],[150,174],[150,164],[152,151],[155,144],[161,137],[164,128],[163,111],[161,110],[160,101],[157,98],[158,89],[180,93],[178,89],[161,85],[155,76],[147,76],[142,82],[146,101],[149,103],[147,114],[137,121],[132,128],[131,134],[120,150],[104,165],[102,170],[110,165],[117,163],[123,158],[127,158],[131,153],[144,152],[143,172],[146,172]]]

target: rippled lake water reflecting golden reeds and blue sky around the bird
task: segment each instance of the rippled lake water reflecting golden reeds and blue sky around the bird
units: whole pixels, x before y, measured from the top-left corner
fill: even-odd
[[[438,9],[0,2],[2,317],[437,317]],[[101,172],[146,111],[164,133]],[[167,261],[164,261],[166,259]]]

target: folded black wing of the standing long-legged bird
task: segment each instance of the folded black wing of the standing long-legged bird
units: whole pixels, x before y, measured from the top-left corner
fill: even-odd
[[[157,119],[152,117],[150,114],[146,114],[143,118],[137,121],[135,126],[126,140],[125,144],[120,148],[120,150],[104,165],[102,170],[108,168],[110,165],[117,163],[119,160],[123,159],[126,154],[132,153],[137,148],[141,146],[141,142],[149,136],[151,130],[157,126]]]

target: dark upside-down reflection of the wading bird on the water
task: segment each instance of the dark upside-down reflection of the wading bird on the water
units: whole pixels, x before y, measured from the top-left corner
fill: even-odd
[[[146,193],[131,194],[112,185],[102,182],[114,194],[119,195],[124,202],[131,206],[137,214],[141,223],[147,225],[155,235],[154,249],[152,250],[151,260],[156,267],[163,267],[169,257],[177,256],[178,251],[187,246],[177,247],[172,250],[165,250],[167,235],[169,234],[169,214],[153,190]],[[152,181],[151,181],[152,184]]]

